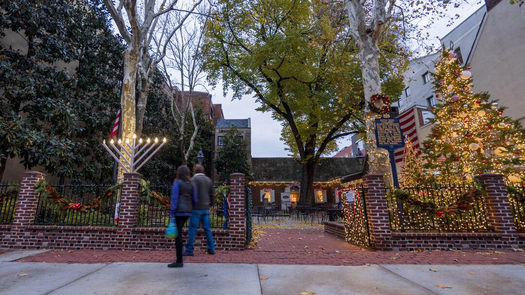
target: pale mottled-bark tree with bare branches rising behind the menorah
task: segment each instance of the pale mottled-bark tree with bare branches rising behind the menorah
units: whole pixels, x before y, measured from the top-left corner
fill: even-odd
[[[103,0],[126,43],[122,52],[123,139],[131,139],[134,133],[142,132],[147,93],[153,81],[155,68],[166,54],[167,43],[202,1],[197,0],[185,5],[178,0]],[[176,25],[169,26],[171,17],[178,14],[183,16],[177,18]],[[152,42],[153,38],[157,38],[156,43]],[[138,98],[135,97],[135,93],[138,93]]]

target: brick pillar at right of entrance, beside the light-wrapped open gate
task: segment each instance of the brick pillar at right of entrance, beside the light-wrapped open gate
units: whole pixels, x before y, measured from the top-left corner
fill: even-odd
[[[363,177],[363,183],[367,188],[364,198],[372,243],[376,250],[392,250],[392,234],[383,175],[367,174]]]

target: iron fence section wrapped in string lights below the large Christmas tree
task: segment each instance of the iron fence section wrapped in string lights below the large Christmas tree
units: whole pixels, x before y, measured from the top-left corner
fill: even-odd
[[[425,187],[402,187],[411,196],[422,202],[433,202],[437,207],[447,207],[458,201],[468,191],[469,184],[434,184]],[[428,214],[421,209],[412,209],[400,200],[396,200],[387,189],[388,213],[392,230],[400,231],[487,231],[488,223],[484,205],[474,202],[470,210],[463,214],[445,214],[443,217]],[[402,208],[400,208],[400,206]]]

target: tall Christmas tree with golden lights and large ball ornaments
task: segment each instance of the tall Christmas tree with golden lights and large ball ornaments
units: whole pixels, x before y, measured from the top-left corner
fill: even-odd
[[[525,130],[505,117],[505,108],[490,100],[488,93],[472,92],[469,70],[461,66],[456,54],[442,50],[433,74],[440,102],[433,109],[433,129],[422,147],[426,172],[438,181],[499,173],[506,180],[521,182],[525,176]]]

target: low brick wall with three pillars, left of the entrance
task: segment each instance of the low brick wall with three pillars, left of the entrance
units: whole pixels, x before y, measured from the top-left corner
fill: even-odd
[[[0,225],[0,248],[14,249],[175,249],[175,241],[164,237],[165,228],[135,227],[139,204],[138,173],[125,173],[117,227],[40,226],[34,225],[38,195],[34,184],[43,180],[39,172],[24,174],[15,220],[12,225]],[[246,241],[244,174],[230,175],[230,228],[212,229],[217,250],[241,250]],[[183,230],[184,240],[187,230]],[[202,229],[195,238],[197,249],[206,248]]]

